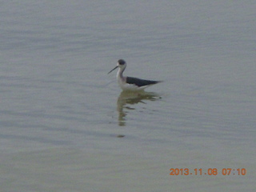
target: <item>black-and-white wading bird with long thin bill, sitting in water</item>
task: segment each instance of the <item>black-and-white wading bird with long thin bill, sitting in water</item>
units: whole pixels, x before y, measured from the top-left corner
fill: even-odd
[[[123,71],[126,70],[126,61],[123,59],[119,59],[117,66],[114,67],[113,70],[118,69],[117,79],[118,84],[122,90],[130,90],[130,91],[139,91],[144,90],[148,86],[152,86],[162,81],[152,81],[141,78],[132,78],[132,77],[124,77]],[[113,70],[110,70],[108,74],[110,74]]]

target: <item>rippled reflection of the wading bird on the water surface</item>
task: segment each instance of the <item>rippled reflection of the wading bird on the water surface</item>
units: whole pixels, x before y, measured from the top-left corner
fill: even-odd
[[[119,126],[126,126],[126,115],[129,110],[135,110],[133,105],[138,103],[146,104],[146,101],[156,101],[161,97],[154,92],[126,92],[122,91],[118,97],[118,124]]]

